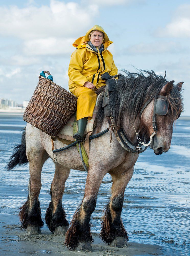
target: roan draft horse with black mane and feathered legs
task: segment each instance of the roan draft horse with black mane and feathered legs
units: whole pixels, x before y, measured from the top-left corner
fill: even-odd
[[[183,82],[177,85],[173,82],[167,81],[165,76],[156,75],[154,71],[141,70],[139,73],[126,71],[126,77],[117,81],[109,100],[115,130],[122,128],[128,141],[134,145],[138,143],[136,132],[144,138],[144,142],[148,142],[153,132],[152,116],[155,111],[156,95],[164,96],[162,98],[167,101],[168,109],[165,114],[156,114],[157,133],[155,132],[152,138],[150,148],[156,155],[167,152],[171,144],[173,122],[183,111],[180,93]],[[99,94],[103,93],[99,97],[94,134],[109,126],[102,108],[104,90],[105,87],[101,87],[97,91]],[[58,140],[55,140],[54,144],[55,148],[63,147]],[[41,189],[40,177],[44,162],[49,157],[53,159],[51,147],[50,136],[27,123],[22,133],[21,144],[16,146],[7,165],[7,169],[11,170],[16,165],[29,162],[28,199],[20,208],[19,217],[21,228],[30,234],[40,233],[40,228],[43,227],[38,200]],[[105,207],[100,237],[107,244],[122,247],[128,240],[121,219],[124,192],[133,176],[134,165],[139,154],[126,151],[113,134],[110,147],[109,132],[91,140],[89,149],[89,171],[85,194],[74,213],[70,227],[62,206],[65,181],[69,177],[70,169],[84,171],[84,167],[75,147],[57,154],[55,174],[50,188],[51,202],[45,215],[47,227],[52,233],[65,234],[65,244],[69,249],[91,250],[93,239],[90,217],[96,207],[102,179],[106,173],[109,173],[113,180],[112,195]]]

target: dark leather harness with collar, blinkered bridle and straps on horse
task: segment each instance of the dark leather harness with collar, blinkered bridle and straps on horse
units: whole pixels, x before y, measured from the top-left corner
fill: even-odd
[[[135,145],[129,139],[127,139],[127,137],[125,136],[125,132],[124,132],[124,130],[122,128],[119,129],[118,131],[116,130],[115,125],[114,125],[113,115],[111,113],[111,109],[108,108],[109,95],[113,91],[114,87],[117,84],[117,81],[115,79],[116,77],[118,77],[118,79],[120,79],[121,77],[124,77],[124,76],[122,74],[118,74],[118,75],[115,75],[115,76],[110,76],[108,73],[107,74],[104,73],[101,76],[101,79],[106,81],[106,86],[105,86],[105,92],[104,92],[104,98],[103,98],[102,106],[104,108],[104,114],[105,114],[105,116],[106,116],[106,118],[108,120],[108,123],[109,123],[109,128],[105,129],[102,132],[99,132],[98,134],[91,135],[89,137],[89,139],[97,138],[97,137],[105,134],[106,132],[108,132],[110,130],[110,128],[111,128],[111,132],[112,131],[114,132],[116,139],[118,140],[120,145],[125,150],[127,150],[128,152],[138,153],[139,154],[139,153],[144,152],[148,148],[148,146],[150,145],[150,143],[152,141],[153,136],[155,136],[155,134],[157,134],[156,115],[166,115],[168,113],[169,103],[167,101],[167,96],[162,96],[162,95],[157,94],[157,95],[155,95],[155,97],[152,97],[153,95],[151,95],[150,99],[148,99],[145,102],[145,104],[143,105],[143,107],[142,107],[142,109],[140,111],[140,114],[139,114],[140,118],[141,118],[141,115],[142,115],[144,109],[151,102],[151,100],[154,99],[154,109],[153,109],[153,116],[152,116],[152,128],[153,128],[154,132],[150,136],[150,142],[148,144],[145,144],[144,141],[143,142],[141,141],[141,138],[140,138],[139,134],[136,132],[135,127],[133,126],[134,130],[135,130],[135,133],[136,133],[136,136],[137,136],[137,141],[138,141],[138,144]],[[177,119],[179,117],[180,117],[180,115],[177,117]],[[144,140],[144,138],[143,138],[143,140]],[[110,139],[110,141],[111,141],[111,139]],[[55,160],[55,162],[57,161],[56,152],[60,152],[60,151],[66,150],[66,149],[68,149],[70,147],[73,147],[76,144],[79,144],[79,153],[80,153],[82,165],[83,165],[85,171],[88,173],[87,167],[86,167],[86,165],[84,163],[84,160],[83,160],[83,157],[82,157],[81,145],[80,145],[79,141],[75,141],[75,142],[69,144],[68,146],[65,146],[65,147],[60,148],[60,149],[53,149],[54,148],[53,147],[52,151],[53,151],[54,160]],[[111,182],[113,182],[113,181],[112,180],[102,181],[102,183],[111,183]]]

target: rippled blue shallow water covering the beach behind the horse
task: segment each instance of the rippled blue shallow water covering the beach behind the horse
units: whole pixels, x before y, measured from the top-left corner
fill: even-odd
[[[20,144],[21,129],[25,124],[21,116],[0,115],[0,214],[18,214],[18,208],[27,198],[28,165],[9,172],[4,169],[13,147]],[[139,156],[125,191],[122,211],[129,243],[165,245],[171,255],[189,255],[189,130],[189,120],[177,120],[167,153],[156,156],[147,149]],[[43,221],[50,202],[53,176],[54,163],[49,159],[42,169],[39,196]],[[63,205],[68,221],[82,200],[85,181],[86,173],[74,170],[66,181]],[[93,213],[93,232],[100,231],[102,209],[110,197],[110,188],[111,184],[100,187]]]

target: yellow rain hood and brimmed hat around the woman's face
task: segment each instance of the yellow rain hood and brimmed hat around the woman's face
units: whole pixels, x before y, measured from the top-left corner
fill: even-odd
[[[86,33],[85,36],[81,36],[78,39],[76,39],[75,42],[73,43],[73,46],[77,47],[79,45],[85,45],[88,41],[90,41],[89,35],[92,32],[92,30],[99,30],[102,33],[104,33],[104,40],[103,40],[104,48],[107,48],[110,44],[113,43],[112,41],[110,41],[110,39],[109,39],[108,35],[105,33],[103,27],[95,25],[91,29],[88,30],[88,32]]]

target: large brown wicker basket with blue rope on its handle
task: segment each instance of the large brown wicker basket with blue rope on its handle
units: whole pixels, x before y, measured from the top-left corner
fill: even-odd
[[[49,71],[44,71],[51,75]],[[38,85],[23,115],[23,120],[50,136],[56,136],[76,112],[77,97],[39,76]]]

